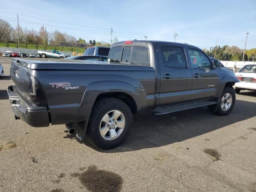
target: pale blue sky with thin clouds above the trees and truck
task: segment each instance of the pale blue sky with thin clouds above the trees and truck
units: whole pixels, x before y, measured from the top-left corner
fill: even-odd
[[[3,1],[3,0],[1,0]],[[4,3],[5,2],[5,3]],[[164,40],[210,49],[218,45],[256,48],[256,0],[12,0],[0,3],[0,19],[22,28],[58,30],[110,42]],[[14,6],[15,5],[15,6]]]

